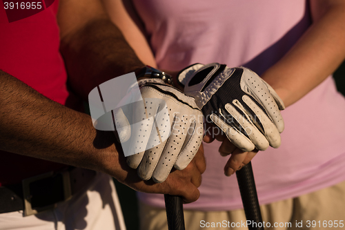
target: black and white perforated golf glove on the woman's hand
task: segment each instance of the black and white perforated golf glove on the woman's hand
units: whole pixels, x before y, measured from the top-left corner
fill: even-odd
[[[218,63],[194,64],[177,78],[184,93],[195,97],[206,121],[221,128],[242,151],[280,146],[284,103],[253,71]]]

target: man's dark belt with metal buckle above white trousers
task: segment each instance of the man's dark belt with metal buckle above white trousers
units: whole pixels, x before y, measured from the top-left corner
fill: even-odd
[[[96,171],[70,167],[26,178],[20,184],[0,186],[0,213],[23,210],[26,216],[53,209],[58,202],[86,189],[96,175]]]

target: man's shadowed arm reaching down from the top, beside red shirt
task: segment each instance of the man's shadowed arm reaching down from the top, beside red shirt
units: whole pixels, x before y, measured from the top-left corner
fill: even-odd
[[[101,1],[61,0],[57,19],[68,81],[83,99],[99,84],[144,67]]]

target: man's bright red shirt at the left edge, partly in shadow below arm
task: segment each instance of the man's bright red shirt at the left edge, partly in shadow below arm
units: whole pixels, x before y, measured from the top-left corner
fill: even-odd
[[[59,53],[58,5],[55,0],[48,8],[44,5],[46,9],[36,15],[9,23],[0,2],[0,69],[55,102],[66,104],[69,93],[66,69]],[[62,166],[0,151],[0,186]]]

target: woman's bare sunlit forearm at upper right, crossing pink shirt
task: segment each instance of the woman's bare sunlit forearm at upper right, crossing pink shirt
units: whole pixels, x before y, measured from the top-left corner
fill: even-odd
[[[313,0],[313,24],[290,51],[262,75],[285,106],[331,75],[345,58],[345,1]]]

